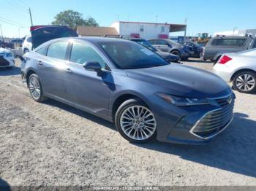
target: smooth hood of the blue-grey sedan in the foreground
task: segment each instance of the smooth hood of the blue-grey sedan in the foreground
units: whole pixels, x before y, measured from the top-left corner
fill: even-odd
[[[127,75],[157,85],[164,93],[183,97],[217,98],[230,93],[227,83],[217,75],[180,64],[129,69]]]

